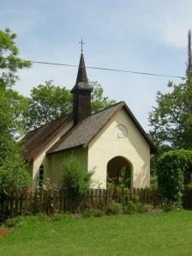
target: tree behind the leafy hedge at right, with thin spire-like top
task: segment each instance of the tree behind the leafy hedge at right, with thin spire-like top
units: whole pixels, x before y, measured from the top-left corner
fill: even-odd
[[[186,82],[178,85],[168,83],[171,92],[157,93],[157,107],[149,115],[150,131],[154,142],[160,146],[168,144],[173,149],[192,149],[192,58],[190,51],[189,32],[189,63]]]

